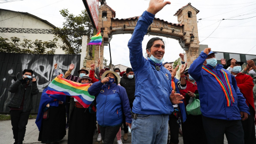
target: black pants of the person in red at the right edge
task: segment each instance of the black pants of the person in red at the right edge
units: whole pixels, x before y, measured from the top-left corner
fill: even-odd
[[[244,144],[255,143],[254,109],[249,106],[251,115],[245,121],[241,121],[244,130]]]

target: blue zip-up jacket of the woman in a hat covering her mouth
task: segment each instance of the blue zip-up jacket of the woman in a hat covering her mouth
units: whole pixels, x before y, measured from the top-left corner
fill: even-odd
[[[127,93],[123,86],[102,84],[101,81],[93,83],[88,92],[94,95],[97,107],[97,121],[101,126],[116,126],[125,121],[132,123],[131,108]]]

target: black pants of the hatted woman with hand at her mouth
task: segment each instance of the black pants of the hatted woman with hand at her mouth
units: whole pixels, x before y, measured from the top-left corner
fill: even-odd
[[[119,131],[121,125],[117,126],[100,126],[100,133],[101,133],[101,138],[104,142],[104,144],[113,144],[114,140],[116,138],[116,134]]]

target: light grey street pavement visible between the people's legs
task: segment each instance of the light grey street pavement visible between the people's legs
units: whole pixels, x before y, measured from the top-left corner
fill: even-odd
[[[23,143],[41,143],[38,141],[39,131],[35,124],[36,119],[29,119],[27,124],[27,130],[25,134],[25,138]],[[122,135],[124,131],[122,131]],[[102,142],[97,141],[98,133],[93,137],[93,144],[98,144]],[[145,137],[146,138],[146,137]],[[183,144],[183,139],[180,135],[179,137],[180,144]],[[124,141],[122,137],[123,144],[131,143],[131,133],[128,133],[128,140]],[[12,125],[11,121],[0,121],[0,144],[12,144],[14,143],[13,134],[12,134]],[[59,142],[59,144],[67,144],[68,143],[68,130],[65,137]],[[117,139],[115,139],[114,143],[117,143]],[[225,137],[224,144],[227,144],[227,139]]]

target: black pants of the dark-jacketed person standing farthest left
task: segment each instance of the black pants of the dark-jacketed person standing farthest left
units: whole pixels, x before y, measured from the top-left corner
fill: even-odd
[[[11,110],[10,115],[13,139],[15,139],[17,143],[22,143],[25,137],[30,111],[23,113],[23,110]]]

